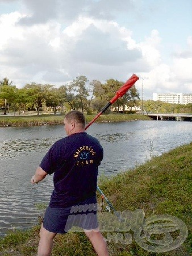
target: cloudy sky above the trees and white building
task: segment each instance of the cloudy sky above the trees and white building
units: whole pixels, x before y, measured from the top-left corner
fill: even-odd
[[[144,100],[192,93],[191,13],[191,0],[0,0],[0,80],[59,87],[135,73]]]

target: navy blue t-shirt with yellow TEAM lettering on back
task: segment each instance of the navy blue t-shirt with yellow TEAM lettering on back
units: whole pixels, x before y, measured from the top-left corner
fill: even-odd
[[[94,196],[102,159],[101,144],[85,132],[55,142],[40,163],[47,174],[54,173],[49,207],[70,207]]]

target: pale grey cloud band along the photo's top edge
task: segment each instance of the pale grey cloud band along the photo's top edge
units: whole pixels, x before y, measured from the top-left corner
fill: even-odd
[[[138,2],[139,0],[137,0]],[[23,9],[28,15],[19,20],[19,24],[32,26],[46,23],[52,19],[62,22],[73,22],[79,15],[94,19],[111,20],[119,11],[127,14],[135,10],[136,3],[132,0],[23,0]]]

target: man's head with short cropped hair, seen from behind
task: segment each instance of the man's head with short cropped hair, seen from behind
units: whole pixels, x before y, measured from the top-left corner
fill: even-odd
[[[65,115],[64,126],[67,135],[85,131],[85,116],[82,112],[72,110]]]

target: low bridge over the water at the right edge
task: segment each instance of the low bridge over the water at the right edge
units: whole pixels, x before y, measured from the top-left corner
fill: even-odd
[[[144,113],[148,117],[155,120],[176,120],[176,121],[192,121],[192,114],[182,113]]]

